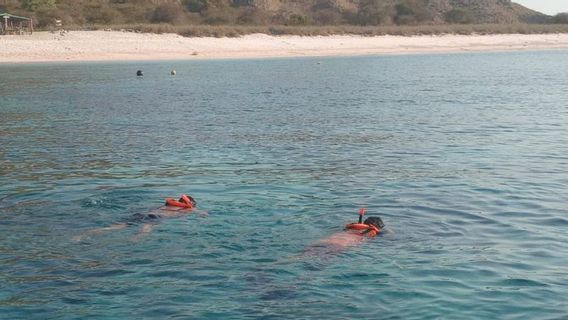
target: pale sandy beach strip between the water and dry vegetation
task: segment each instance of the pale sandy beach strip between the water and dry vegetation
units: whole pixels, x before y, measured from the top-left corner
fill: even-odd
[[[120,31],[0,36],[0,63],[445,53],[568,48],[568,34],[186,38]]]

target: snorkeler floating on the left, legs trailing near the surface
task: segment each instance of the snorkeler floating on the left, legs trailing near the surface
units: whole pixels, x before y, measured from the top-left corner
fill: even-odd
[[[179,218],[190,213],[197,213],[206,216],[207,212],[196,209],[197,202],[191,196],[182,194],[179,200],[166,198],[166,204],[150,213],[135,213],[122,221],[114,223],[108,227],[98,228],[87,231],[85,234],[74,237],[75,241],[81,241],[85,237],[97,235],[104,231],[121,230],[128,226],[140,225],[136,238],[140,238],[152,231],[154,226],[162,219]]]

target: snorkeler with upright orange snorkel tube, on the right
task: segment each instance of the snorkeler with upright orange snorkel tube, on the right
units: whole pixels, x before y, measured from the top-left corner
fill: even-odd
[[[365,211],[365,208],[359,209],[359,221],[357,223],[349,223],[342,232],[332,234],[308,246],[302,256],[339,253],[360,244],[366,239],[377,236],[384,230],[385,224],[379,217],[368,217],[362,222]]]

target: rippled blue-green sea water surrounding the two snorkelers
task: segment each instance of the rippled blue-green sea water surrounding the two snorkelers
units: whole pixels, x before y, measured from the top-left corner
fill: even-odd
[[[566,318],[566,70],[566,51],[0,65],[0,318]],[[209,215],[74,240],[182,192]],[[301,256],[359,207],[389,232]]]

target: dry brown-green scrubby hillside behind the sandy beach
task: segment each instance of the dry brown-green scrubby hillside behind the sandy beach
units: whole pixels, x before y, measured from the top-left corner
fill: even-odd
[[[0,0],[38,27],[440,26],[565,23],[510,0]],[[175,30],[174,30],[175,31]]]

